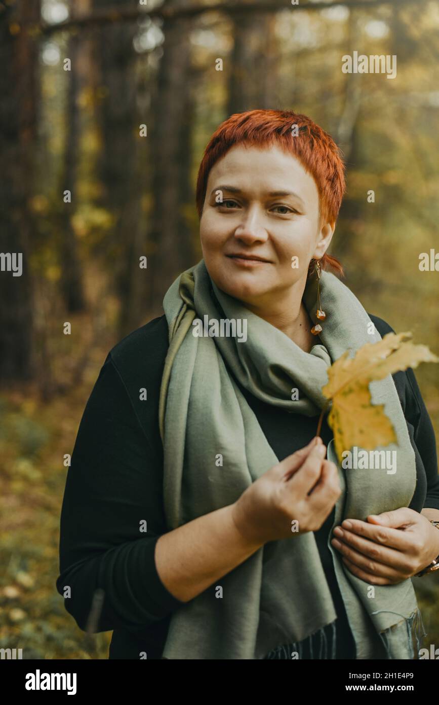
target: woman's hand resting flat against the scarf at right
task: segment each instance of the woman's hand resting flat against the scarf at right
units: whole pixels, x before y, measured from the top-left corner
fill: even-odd
[[[408,507],[345,519],[333,530],[333,548],[346,568],[365,582],[389,585],[412,577],[439,555],[439,531]]]

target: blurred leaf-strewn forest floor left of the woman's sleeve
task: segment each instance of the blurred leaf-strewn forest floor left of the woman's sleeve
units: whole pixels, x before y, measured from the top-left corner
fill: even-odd
[[[64,455],[72,453],[87,398],[113,344],[104,336],[90,348],[77,384],[69,381],[49,400],[38,383],[0,397],[0,648],[23,649],[23,658],[108,658],[112,632],[82,632],[55,583]],[[58,374],[52,370],[53,376]]]

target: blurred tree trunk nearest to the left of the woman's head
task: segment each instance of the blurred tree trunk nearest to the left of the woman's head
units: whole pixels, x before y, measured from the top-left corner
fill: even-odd
[[[185,0],[167,2],[185,5]],[[158,73],[153,130],[153,219],[151,224],[151,300],[158,314],[167,288],[194,264],[191,228],[184,208],[191,179],[191,85],[189,84],[191,20],[166,20]],[[191,195],[191,201],[193,195]],[[149,264],[148,264],[149,266]]]

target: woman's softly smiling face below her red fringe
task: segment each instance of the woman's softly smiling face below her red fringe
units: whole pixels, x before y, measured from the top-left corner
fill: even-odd
[[[210,170],[200,222],[203,259],[217,287],[249,309],[301,299],[310,260],[324,255],[332,233],[329,223],[319,228],[314,178],[279,147],[238,145]]]

